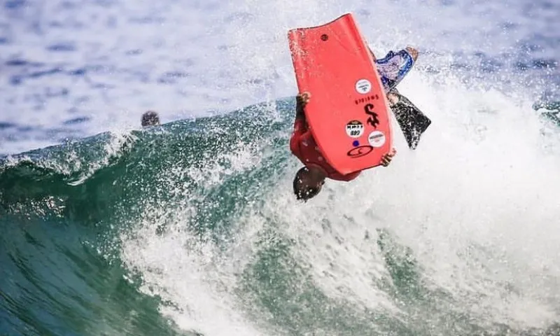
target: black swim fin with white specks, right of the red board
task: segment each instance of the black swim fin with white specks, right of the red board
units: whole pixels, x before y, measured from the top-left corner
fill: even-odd
[[[400,130],[405,135],[409,148],[416,149],[421,135],[428,129],[432,120],[396,89],[391,90],[390,93],[398,97],[398,102],[391,106],[391,110],[395,113]]]

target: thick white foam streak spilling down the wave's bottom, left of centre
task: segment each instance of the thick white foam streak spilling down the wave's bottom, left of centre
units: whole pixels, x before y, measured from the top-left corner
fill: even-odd
[[[179,218],[177,218],[179,220]],[[228,274],[216,269],[215,247],[195,242],[183,228],[156,235],[151,225],[127,239],[123,258],[141,272],[141,290],[162,297],[160,311],[183,330],[202,335],[260,335],[236,312]]]

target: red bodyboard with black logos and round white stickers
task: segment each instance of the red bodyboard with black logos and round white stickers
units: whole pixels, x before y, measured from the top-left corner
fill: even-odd
[[[351,13],[288,31],[305,117],[325,160],[341,174],[375,167],[392,147],[391,121],[370,50]]]

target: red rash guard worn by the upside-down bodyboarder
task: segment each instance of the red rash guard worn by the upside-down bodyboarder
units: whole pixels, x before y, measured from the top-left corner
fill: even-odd
[[[332,168],[321,155],[304,118],[295,118],[293,134],[290,139],[290,151],[307,167],[318,166],[323,169],[327,177],[332,180],[351,181],[360,174],[360,172],[354,172],[342,175]]]

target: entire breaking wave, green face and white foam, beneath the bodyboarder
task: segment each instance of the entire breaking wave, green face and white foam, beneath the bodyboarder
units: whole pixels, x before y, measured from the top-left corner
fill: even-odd
[[[1,331],[556,330],[554,123],[533,111],[534,127],[511,130],[500,125],[517,117],[482,109],[495,128],[469,130],[440,114],[448,124],[417,151],[299,204],[293,108],[283,99],[4,158]]]

